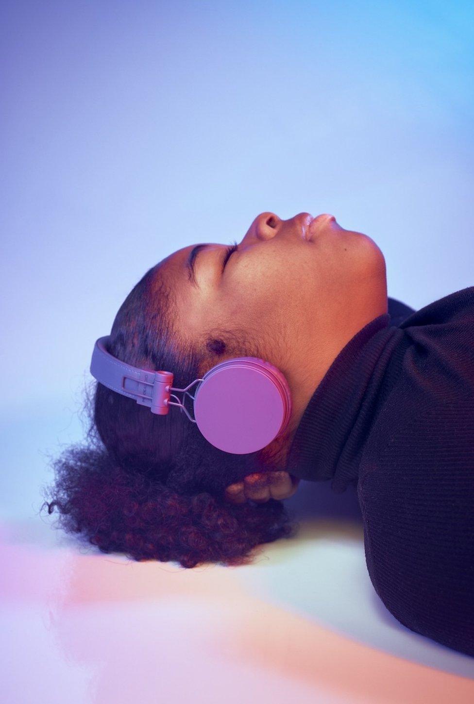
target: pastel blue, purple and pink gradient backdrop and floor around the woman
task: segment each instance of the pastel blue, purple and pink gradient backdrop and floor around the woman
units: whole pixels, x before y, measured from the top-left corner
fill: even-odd
[[[170,252],[329,212],[413,308],[474,284],[473,20],[456,1],[3,0],[9,704],[474,700],[473,658],[375,594],[355,492],[301,482],[297,541],[236,569],[86,553],[39,515],[94,341]]]

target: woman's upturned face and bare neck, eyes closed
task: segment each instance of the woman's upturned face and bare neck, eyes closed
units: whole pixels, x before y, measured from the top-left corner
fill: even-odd
[[[256,341],[259,356],[285,375],[293,433],[339,351],[387,313],[385,258],[373,239],[327,214],[280,220],[261,213],[237,243],[224,270],[228,245],[208,243],[194,258],[194,282],[187,266],[194,245],[164,259],[160,276],[175,291],[183,341],[208,354],[209,335],[225,340],[226,331],[235,332],[236,341]],[[216,356],[208,367],[231,356]]]

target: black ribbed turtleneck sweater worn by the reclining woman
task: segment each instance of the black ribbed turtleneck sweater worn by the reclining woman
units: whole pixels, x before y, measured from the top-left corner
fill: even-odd
[[[335,358],[287,471],[356,487],[382,602],[474,656],[474,287],[394,320],[374,318]]]

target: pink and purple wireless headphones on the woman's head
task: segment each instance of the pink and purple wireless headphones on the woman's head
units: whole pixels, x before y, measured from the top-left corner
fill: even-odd
[[[280,436],[289,423],[292,399],[285,376],[258,357],[235,357],[208,370],[185,389],[172,386],[173,372],[132,367],[107,351],[110,335],[94,345],[90,372],[122,396],[135,398],[151,413],[166,415],[178,406],[214,447],[235,455],[256,452]],[[188,389],[199,382],[194,396]],[[170,391],[182,391],[182,403]],[[192,418],[185,396],[194,401]],[[170,401],[170,397],[176,399]]]

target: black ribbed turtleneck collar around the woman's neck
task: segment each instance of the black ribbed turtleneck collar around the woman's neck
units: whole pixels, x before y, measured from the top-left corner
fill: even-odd
[[[356,484],[363,448],[399,375],[404,333],[390,315],[374,318],[342,348],[311,397],[289,449],[287,471],[332,479],[338,494]]]

